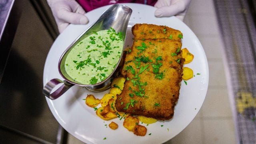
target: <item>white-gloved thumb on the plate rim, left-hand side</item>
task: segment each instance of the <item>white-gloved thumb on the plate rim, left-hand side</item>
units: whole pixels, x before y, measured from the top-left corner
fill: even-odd
[[[71,24],[87,24],[89,22],[88,18],[83,14],[69,12],[67,10],[59,12],[58,18]]]

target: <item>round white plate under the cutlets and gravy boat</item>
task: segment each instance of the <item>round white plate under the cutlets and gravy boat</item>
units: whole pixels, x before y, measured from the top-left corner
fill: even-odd
[[[158,121],[146,126],[148,129],[146,136],[136,136],[122,126],[123,119],[118,118],[104,121],[96,116],[93,108],[86,106],[84,98],[87,94],[93,94],[96,98],[102,98],[106,92],[92,93],[79,86],[73,86],[65,94],[56,100],[46,98],[52,114],[60,125],[70,134],[79,140],[89,144],[113,144],[116,142],[127,144],[148,144],[163,143],[178,133],[180,133],[194,119],[200,110],[208,88],[208,63],[206,55],[196,35],[176,17],[155,18],[156,8],[143,4],[124,4],[132,8],[132,16],[128,26],[128,43],[131,46],[131,27],[136,23],[148,23],[156,25],[166,25],[180,30],[183,33],[182,48],[194,54],[194,60],[186,64],[194,70],[195,77],[187,81],[187,85],[182,81],[180,97],[174,110],[174,117],[169,121]],[[44,66],[44,85],[53,78],[63,79],[58,73],[58,60],[64,50],[75,40],[88,26],[108,8],[104,6],[86,13],[90,22],[87,25],[70,24],[62,34],[58,36],[52,45]],[[200,75],[197,75],[200,73]],[[114,121],[118,124],[117,130],[111,130],[105,124]],[[163,125],[163,126],[161,126]],[[150,134],[151,135],[148,135]],[[104,138],[106,139],[104,140]]]

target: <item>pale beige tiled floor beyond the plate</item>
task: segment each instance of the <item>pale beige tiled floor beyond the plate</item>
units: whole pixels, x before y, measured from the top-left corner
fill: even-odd
[[[209,87],[196,118],[166,144],[235,144],[234,122],[226,88],[221,49],[224,48],[212,0],[192,0],[184,22],[198,36],[209,64]],[[69,144],[81,144],[68,136]]]

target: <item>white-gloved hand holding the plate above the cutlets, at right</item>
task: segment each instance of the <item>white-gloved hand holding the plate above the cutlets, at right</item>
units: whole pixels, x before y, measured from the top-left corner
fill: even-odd
[[[154,7],[158,8],[155,11],[156,17],[176,16],[183,20],[186,14],[190,0],[158,0]]]

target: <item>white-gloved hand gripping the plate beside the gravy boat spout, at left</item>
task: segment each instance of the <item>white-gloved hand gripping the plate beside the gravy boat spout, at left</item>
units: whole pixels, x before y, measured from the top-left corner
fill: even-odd
[[[87,24],[84,9],[75,0],[47,0],[58,26],[59,32],[69,24]]]

